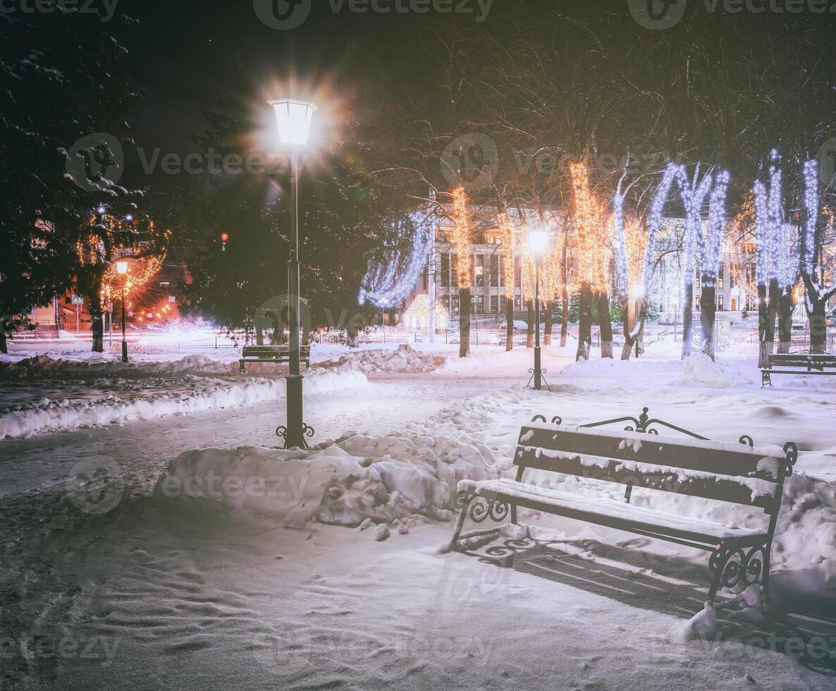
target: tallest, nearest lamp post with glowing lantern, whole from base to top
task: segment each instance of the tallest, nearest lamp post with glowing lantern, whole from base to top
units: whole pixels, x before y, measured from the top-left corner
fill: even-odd
[[[303,422],[302,373],[299,358],[301,300],[299,270],[299,163],[300,154],[308,144],[311,120],[316,105],[303,100],[278,99],[268,101],[276,113],[278,138],[290,155],[290,259],[288,261],[290,366],[288,386],[288,424],[276,432],[284,438],[285,448],[307,448],[305,433],[314,430]]]

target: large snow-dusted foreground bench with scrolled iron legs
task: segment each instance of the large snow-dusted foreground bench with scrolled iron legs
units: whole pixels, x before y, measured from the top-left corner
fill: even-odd
[[[760,580],[767,591],[783,481],[792,474],[798,458],[795,443],[788,442],[781,449],[754,448],[748,436],[741,437],[740,443],[711,441],[667,422],[650,420],[647,408],[639,418],[619,417],[580,427],[561,422],[555,417],[549,424],[538,416],[523,426],[514,455],[516,479],[462,480],[458,484],[456,501],[461,513],[451,549],[466,550],[468,540],[461,537],[461,529],[468,515],[481,523],[487,518],[501,521],[510,514],[512,523],[517,523],[518,508],[533,509],[711,551],[711,601],[721,585],[750,586]],[[602,428],[616,422],[630,424],[624,430]],[[691,438],[660,437],[659,426]],[[606,491],[614,489],[612,483],[622,484],[626,486],[624,499],[607,499],[600,491],[579,494],[526,484],[526,468],[588,479],[574,484],[584,490]],[[642,493],[642,505],[630,503],[634,488],[652,490]],[[663,498],[660,493],[711,499],[717,506],[730,502],[762,509],[763,522],[754,528],[743,527],[731,518],[722,522],[694,518],[685,511],[655,509],[652,504]],[[670,506],[670,499],[665,504]]]

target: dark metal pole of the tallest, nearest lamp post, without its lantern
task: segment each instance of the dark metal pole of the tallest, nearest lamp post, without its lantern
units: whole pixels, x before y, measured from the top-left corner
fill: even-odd
[[[286,448],[305,448],[302,414],[302,372],[299,357],[299,161],[298,154],[290,154],[290,260],[288,261],[288,287],[290,289],[290,371],[288,385],[288,427],[285,431]]]

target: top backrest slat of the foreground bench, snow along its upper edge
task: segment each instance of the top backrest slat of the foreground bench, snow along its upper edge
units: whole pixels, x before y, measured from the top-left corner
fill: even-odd
[[[567,427],[541,422],[523,426],[514,463],[526,466],[521,448],[536,447],[609,459],[636,461],[666,468],[703,473],[777,479],[782,452],[779,448],[749,448],[739,443],[661,437],[649,433]]]

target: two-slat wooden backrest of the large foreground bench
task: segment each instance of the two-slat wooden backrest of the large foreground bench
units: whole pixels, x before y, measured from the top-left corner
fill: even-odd
[[[653,433],[530,422],[518,443],[517,479],[525,468],[538,468],[757,506],[767,514],[777,514],[788,473],[788,456],[780,448]]]

